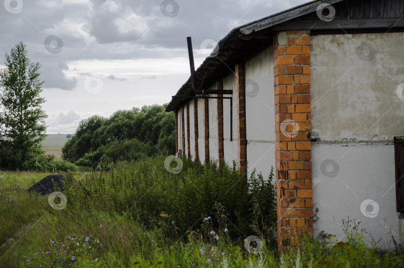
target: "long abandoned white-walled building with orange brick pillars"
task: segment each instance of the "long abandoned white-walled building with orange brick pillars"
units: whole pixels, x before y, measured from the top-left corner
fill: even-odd
[[[403,15],[404,0],[315,0],[234,28],[167,106],[176,152],[273,166],[279,248],[343,240],[348,217],[399,241]]]

